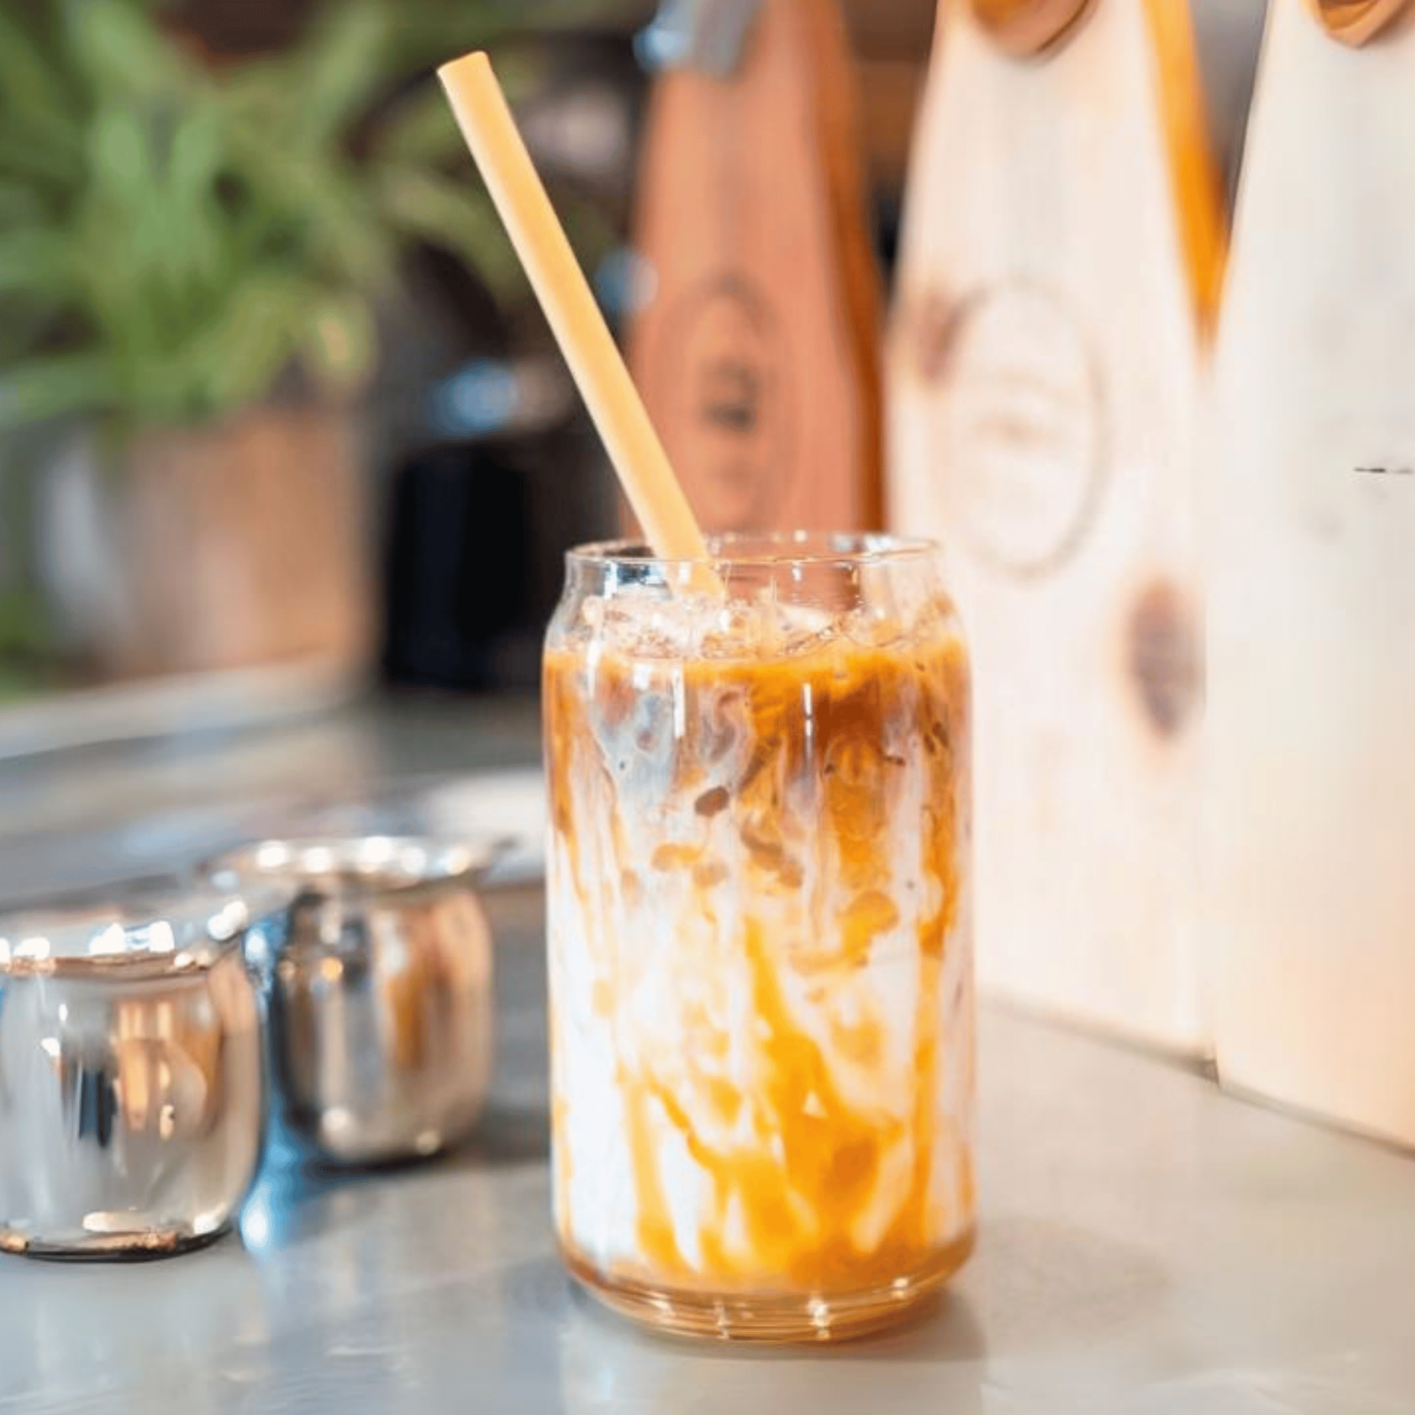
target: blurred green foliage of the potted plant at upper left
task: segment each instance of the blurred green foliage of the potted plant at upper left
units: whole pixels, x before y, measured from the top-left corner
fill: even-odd
[[[413,242],[522,289],[433,81],[374,116],[419,45],[485,44],[522,0],[323,3],[293,51],[208,74],[163,0],[0,0],[0,423],[212,417],[291,364],[348,391]]]

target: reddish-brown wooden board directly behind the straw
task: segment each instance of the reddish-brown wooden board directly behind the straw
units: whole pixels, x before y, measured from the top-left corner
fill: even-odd
[[[835,0],[763,0],[655,85],[630,362],[705,529],[879,524],[879,303]]]

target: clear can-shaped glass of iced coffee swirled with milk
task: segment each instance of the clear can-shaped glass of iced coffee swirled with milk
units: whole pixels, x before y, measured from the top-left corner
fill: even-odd
[[[896,1320],[974,1234],[968,657],[923,541],[567,556],[545,652],[555,1215],[659,1327]]]

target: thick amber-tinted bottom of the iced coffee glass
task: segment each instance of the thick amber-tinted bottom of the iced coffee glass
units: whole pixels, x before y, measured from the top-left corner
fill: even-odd
[[[848,1341],[907,1320],[972,1252],[969,1228],[921,1268],[884,1288],[824,1293],[708,1293],[600,1272],[562,1242],[572,1276],[596,1299],[641,1326],[732,1341]]]

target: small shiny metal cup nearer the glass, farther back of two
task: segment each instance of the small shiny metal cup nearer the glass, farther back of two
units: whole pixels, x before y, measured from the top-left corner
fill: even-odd
[[[412,836],[265,841],[205,866],[276,886],[248,955],[263,972],[286,1126],[341,1165],[430,1156],[491,1084],[492,949],[477,883],[499,843]]]

